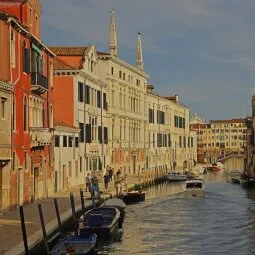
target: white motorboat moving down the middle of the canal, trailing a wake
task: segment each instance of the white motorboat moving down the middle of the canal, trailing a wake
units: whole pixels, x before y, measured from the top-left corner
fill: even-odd
[[[185,182],[185,196],[188,197],[203,197],[204,191],[204,180],[203,179],[192,179]]]

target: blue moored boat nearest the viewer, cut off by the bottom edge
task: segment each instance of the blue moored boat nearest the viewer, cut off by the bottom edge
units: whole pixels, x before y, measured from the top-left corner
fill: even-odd
[[[50,251],[52,255],[89,255],[92,254],[96,245],[97,235],[69,234],[61,239]]]

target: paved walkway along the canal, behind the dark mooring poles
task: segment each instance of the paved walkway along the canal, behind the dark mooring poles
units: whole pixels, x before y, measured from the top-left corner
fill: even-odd
[[[138,176],[128,176],[128,188],[145,181]],[[100,189],[103,196],[115,195],[114,182],[109,183],[107,190],[100,181]],[[81,209],[80,189],[85,190],[85,185],[73,187],[68,191],[54,194],[54,197],[30,203],[24,206],[24,217],[26,221],[26,232],[28,236],[28,245],[32,247],[35,243],[42,240],[42,230],[38,213],[38,203],[42,205],[46,231],[49,232],[57,227],[56,211],[53,198],[57,198],[61,221],[65,221],[72,215],[70,192],[73,192],[76,211]],[[85,207],[92,206],[90,193],[84,192]],[[19,210],[12,210],[0,215],[0,255],[19,255],[24,254],[24,245],[22,239]]]

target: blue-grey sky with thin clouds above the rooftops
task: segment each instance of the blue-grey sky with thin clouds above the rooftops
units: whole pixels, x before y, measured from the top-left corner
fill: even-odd
[[[148,84],[206,120],[251,114],[254,0],[41,0],[48,46],[108,51],[111,9],[119,57],[136,63],[141,32]],[[255,77],[255,76],[254,76]]]

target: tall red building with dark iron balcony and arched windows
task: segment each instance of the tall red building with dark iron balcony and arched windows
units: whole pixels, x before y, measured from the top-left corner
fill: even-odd
[[[0,79],[13,86],[11,172],[0,183],[9,184],[0,210],[54,189],[54,54],[40,40],[40,18],[38,0],[0,1]]]

